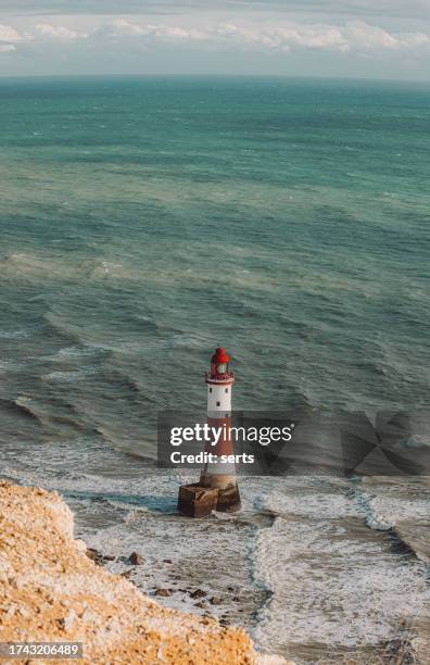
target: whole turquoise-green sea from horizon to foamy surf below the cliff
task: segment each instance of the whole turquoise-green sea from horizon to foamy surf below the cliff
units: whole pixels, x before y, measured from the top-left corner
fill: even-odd
[[[428,410],[429,109],[418,83],[0,80],[0,476],[298,665],[430,662],[428,475],[245,477],[193,520],[157,414],[204,411],[217,346],[238,410]]]

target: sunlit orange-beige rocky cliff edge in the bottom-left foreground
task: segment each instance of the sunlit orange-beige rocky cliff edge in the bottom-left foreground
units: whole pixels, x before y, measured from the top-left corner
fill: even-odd
[[[79,662],[94,665],[284,663],[257,654],[241,628],[162,607],[127,572],[105,570],[115,557],[87,549],[73,530],[73,514],[55,492],[0,481],[0,641],[83,642]],[[130,570],[142,563],[129,554]],[[205,594],[198,591],[197,602]]]

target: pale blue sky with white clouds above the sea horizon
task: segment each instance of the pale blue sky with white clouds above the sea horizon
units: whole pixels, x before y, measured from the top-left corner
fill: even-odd
[[[430,0],[0,0],[0,76],[430,81]]]

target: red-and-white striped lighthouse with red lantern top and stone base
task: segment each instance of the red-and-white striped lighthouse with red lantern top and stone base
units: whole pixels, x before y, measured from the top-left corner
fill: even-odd
[[[231,391],[235,373],[230,369],[230,356],[218,347],[211,359],[210,371],[204,375],[207,386],[207,430],[205,457],[200,481],[179,488],[178,509],[192,517],[203,517],[213,510],[235,512],[240,510],[240,495],[236,477],[231,440]]]

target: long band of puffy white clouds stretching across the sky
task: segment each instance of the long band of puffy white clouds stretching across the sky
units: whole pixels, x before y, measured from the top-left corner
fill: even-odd
[[[281,22],[276,27],[246,23],[215,23],[194,27],[170,24],[138,23],[116,18],[100,23],[86,32],[37,23],[29,33],[20,34],[15,28],[0,25],[0,45],[3,52],[13,50],[22,41],[69,42],[87,41],[103,52],[113,43],[148,49],[156,45],[189,46],[204,50],[253,49],[277,50],[280,52],[313,50],[332,52],[355,52],[367,54],[383,50],[412,50],[414,52],[430,45],[427,33],[394,33],[369,25],[364,21],[350,21],[344,25],[324,23]],[[76,47],[77,48],[77,47]]]

